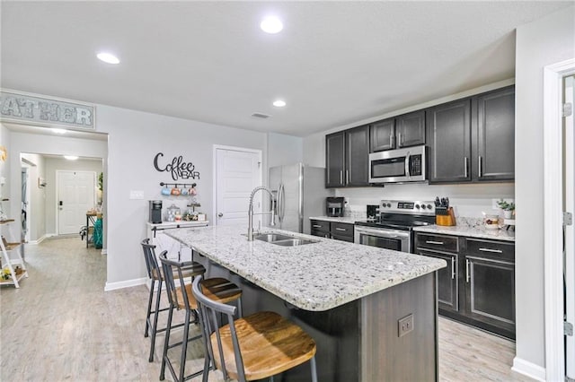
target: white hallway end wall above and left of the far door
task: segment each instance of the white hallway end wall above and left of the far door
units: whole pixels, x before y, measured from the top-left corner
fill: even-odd
[[[56,171],[68,169],[74,171],[93,171],[96,175],[103,171],[102,160],[77,160],[66,161],[65,159],[46,158],[46,234],[57,234],[57,195],[56,195]],[[79,227],[78,227],[79,230]]]

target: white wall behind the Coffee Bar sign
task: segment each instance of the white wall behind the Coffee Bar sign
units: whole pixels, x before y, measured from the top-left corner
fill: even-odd
[[[267,169],[266,135],[226,126],[216,126],[175,117],[164,117],[128,109],[98,105],[97,130],[109,134],[107,195],[108,281],[107,288],[143,282],[146,265],[140,240],[146,237],[148,200],[161,199],[164,208],[174,203],[185,206],[188,198],[163,196],[159,183],[173,182],[165,172],[155,170],[157,152],[164,163],[182,155],[199,171],[200,210],[213,221],[213,145],[246,147],[262,151]],[[263,171],[264,181],[266,171]],[[190,183],[191,180],[187,182]],[[130,190],[143,191],[143,200],[130,200]],[[106,223],[106,221],[104,221]]]

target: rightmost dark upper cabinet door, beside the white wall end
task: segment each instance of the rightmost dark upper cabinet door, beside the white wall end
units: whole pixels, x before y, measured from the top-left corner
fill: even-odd
[[[515,178],[515,88],[473,98],[473,180]]]

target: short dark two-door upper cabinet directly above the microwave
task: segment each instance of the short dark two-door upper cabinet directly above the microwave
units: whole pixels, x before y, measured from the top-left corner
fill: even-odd
[[[425,144],[425,110],[378,121],[369,126],[369,152]]]

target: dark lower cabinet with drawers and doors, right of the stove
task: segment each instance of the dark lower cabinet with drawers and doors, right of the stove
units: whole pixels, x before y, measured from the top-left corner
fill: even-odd
[[[514,243],[417,232],[415,248],[447,261],[438,271],[440,315],[515,339]]]

